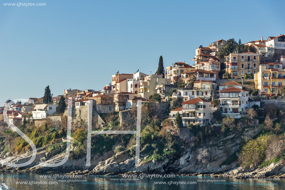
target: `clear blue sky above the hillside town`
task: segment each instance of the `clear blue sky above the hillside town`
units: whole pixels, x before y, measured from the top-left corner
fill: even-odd
[[[13,2],[46,6],[3,5]],[[54,96],[68,88],[100,90],[118,70],[154,72],[160,55],[164,67],[192,65],[195,49],[217,39],[246,43],[284,34],[284,12],[277,8],[284,5],[263,0],[3,0],[0,105],[8,98],[42,97],[47,85]]]

